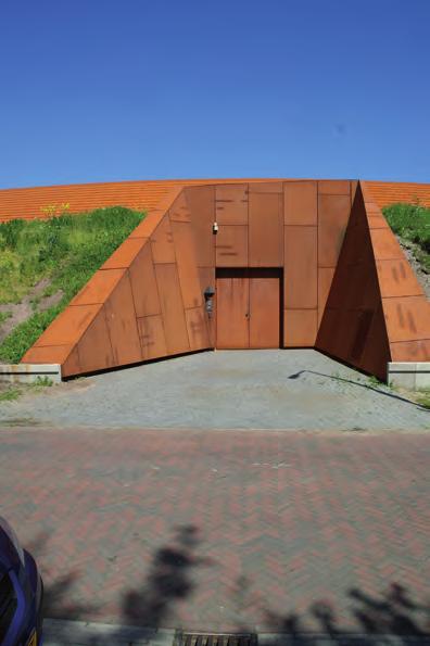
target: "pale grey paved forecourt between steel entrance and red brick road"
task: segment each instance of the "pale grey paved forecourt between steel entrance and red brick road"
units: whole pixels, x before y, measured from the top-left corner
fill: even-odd
[[[0,403],[0,423],[102,428],[429,429],[430,411],[314,350],[205,352]]]

